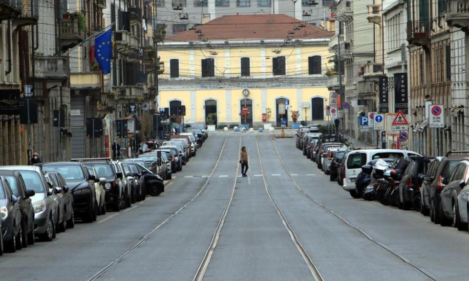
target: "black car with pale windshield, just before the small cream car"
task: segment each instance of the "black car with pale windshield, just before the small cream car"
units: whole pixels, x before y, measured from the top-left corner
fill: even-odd
[[[99,181],[89,175],[82,162],[48,162],[36,164],[43,172],[58,172],[64,178],[73,195],[73,213],[86,222],[96,221],[98,208],[94,182]]]

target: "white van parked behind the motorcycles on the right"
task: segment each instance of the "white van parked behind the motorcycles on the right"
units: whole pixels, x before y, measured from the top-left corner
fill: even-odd
[[[343,175],[343,186],[345,191],[350,194],[355,193],[355,180],[362,171],[362,166],[369,161],[378,158],[393,158],[394,156],[409,159],[409,156],[421,156],[420,154],[410,150],[400,149],[363,149],[352,150],[345,156],[345,174]],[[353,196],[353,195],[352,195]]]

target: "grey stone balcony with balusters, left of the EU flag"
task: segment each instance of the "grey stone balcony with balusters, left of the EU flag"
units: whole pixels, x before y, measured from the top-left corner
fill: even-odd
[[[65,57],[36,57],[36,79],[67,80],[68,70]]]

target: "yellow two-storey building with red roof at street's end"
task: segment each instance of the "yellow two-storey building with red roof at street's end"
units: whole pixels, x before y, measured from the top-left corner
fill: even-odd
[[[286,15],[224,16],[159,43],[165,63],[159,107],[185,105],[185,122],[218,127],[248,123],[280,126],[327,120],[329,91],[324,75],[333,33]],[[282,103],[287,112],[280,115]],[[243,107],[249,114],[241,116]],[[279,108],[280,106],[280,108]],[[265,122],[263,121],[266,118]]]

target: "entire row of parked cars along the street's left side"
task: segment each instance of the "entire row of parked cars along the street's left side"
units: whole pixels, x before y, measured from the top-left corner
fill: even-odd
[[[91,223],[107,211],[160,195],[164,180],[180,171],[207,138],[205,131],[190,130],[133,159],[0,166],[0,255],[36,239],[52,241],[77,219]]]

